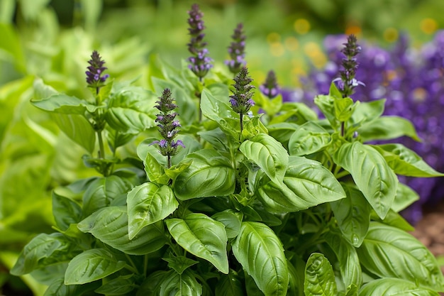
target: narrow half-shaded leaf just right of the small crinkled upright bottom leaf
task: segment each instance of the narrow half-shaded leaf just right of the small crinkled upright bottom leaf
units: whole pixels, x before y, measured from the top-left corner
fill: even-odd
[[[356,249],[336,231],[328,231],[324,238],[338,258],[340,275],[345,287],[350,285],[360,287],[362,270]]]

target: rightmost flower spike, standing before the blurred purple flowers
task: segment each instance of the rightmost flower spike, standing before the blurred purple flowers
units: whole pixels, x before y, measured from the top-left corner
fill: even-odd
[[[345,47],[341,50],[341,53],[345,55],[342,60],[342,70],[339,71],[340,77],[333,80],[336,82],[338,89],[343,94],[343,97],[350,97],[355,87],[358,85],[365,85],[362,82],[355,79],[357,63],[356,55],[360,53],[361,47],[357,45],[356,36],[351,34],[347,38],[347,43],[344,43]]]

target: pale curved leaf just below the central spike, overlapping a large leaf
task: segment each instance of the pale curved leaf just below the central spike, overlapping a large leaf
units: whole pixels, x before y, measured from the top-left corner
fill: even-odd
[[[240,144],[240,152],[256,163],[274,182],[284,180],[289,155],[281,143],[265,133],[260,133]]]

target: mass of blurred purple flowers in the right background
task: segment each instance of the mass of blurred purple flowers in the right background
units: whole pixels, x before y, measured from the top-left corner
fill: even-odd
[[[301,78],[301,89],[284,92],[284,100],[306,102],[313,106],[316,94],[328,94],[331,81],[338,75],[344,35],[329,35],[324,40],[330,60],[322,70],[313,67],[308,77]],[[338,54],[339,53],[339,54]],[[444,170],[444,31],[438,32],[431,43],[419,49],[409,46],[406,35],[401,35],[389,49],[364,44],[356,77],[366,87],[355,89],[354,97],[362,102],[386,98],[384,115],[402,116],[413,122],[422,142],[411,138],[396,139],[420,155],[438,171]],[[314,106],[313,106],[314,108]],[[438,202],[444,197],[441,178],[401,177],[401,182],[412,187],[421,199],[404,211],[411,222],[421,218],[421,207],[426,202]]]

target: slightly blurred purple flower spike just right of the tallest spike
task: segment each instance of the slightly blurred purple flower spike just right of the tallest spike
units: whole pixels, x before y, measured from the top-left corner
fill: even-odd
[[[243,24],[238,23],[238,26],[234,29],[233,35],[231,35],[233,42],[228,47],[228,54],[231,60],[226,60],[225,64],[233,74],[238,74],[240,68],[245,67],[245,33],[243,32]]]

